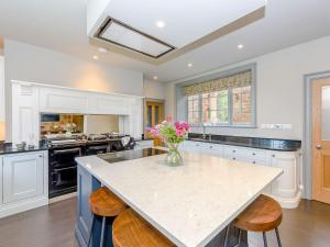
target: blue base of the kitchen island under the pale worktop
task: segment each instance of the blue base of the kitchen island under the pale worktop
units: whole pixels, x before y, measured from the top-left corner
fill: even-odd
[[[101,183],[92,177],[86,169],[78,166],[78,203],[77,203],[77,224],[75,235],[79,247],[87,247],[88,237],[90,234],[92,214],[89,209],[89,195],[92,191],[99,189]],[[105,247],[112,247],[112,231],[111,223],[113,218],[109,218],[106,227],[106,243]],[[96,223],[92,231],[91,247],[100,246],[101,238],[101,217],[96,217]],[[227,247],[233,247],[238,245],[239,231],[231,226],[229,234],[229,242]],[[222,231],[216,236],[207,247],[222,247],[224,242],[226,231]],[[241,233],[241,245],[240,247],[248,247],[248,233]]]

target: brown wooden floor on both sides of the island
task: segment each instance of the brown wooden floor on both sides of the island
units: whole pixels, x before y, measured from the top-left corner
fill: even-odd
[[[76,200],[0,220],[0,247],[76,247]],[[301,201],[298,209],[284,210],[279,227],[283,247],[329,247],[330,205]],[[277,246],[270,233],[268,247]],[[250,246],[263,246],[261,234],[250,235]]]

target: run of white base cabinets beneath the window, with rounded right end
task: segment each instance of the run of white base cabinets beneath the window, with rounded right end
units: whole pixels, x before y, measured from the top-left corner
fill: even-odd
[[[264,193],[274,197],[286,209],[293,209],[299,204],[301,195],[298,189],[298,151],[273,151],[194,141],[185,141],[179,146],[179,149],[242,162],[282,168],[284,170],[283,175],[267,187]]]

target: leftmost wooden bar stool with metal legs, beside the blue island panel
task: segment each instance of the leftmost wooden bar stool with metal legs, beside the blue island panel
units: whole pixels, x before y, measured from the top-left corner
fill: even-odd
[[[108,188],[102,187],[94,191],[89,197],[90,211],[92,212],[92,221],[90,227],[90,234],[88,238],[87,247],[90,245],[91,234],[95,225],[95,217],[102,217],[101,239],[100,247],[103,246],[105,242],[105,228],[106,218],[114,217],[127,209],[127,205],[116,194],[113,194]]]

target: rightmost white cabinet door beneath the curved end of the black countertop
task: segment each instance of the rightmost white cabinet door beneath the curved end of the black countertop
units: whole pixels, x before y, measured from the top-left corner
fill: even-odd
[[[279,197],[295,197],[297,193],[297,156],[295,153],[271,153],[271,166],[284,173],[273,182],[272,193]]]

